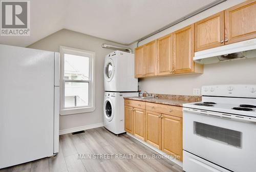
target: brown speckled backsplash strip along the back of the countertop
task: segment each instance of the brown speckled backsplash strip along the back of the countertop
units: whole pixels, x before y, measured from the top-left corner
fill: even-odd
[[[155,94],[155,93],[148,93],[154,97],[158,96],[160,99],[176,99],[176,100],[188,100],[188,101],[201,101],[202,96],[184,96],[184,95],[172,95],[172,94]],[[146,93],[143,93],[142,96],[146,96]]]

